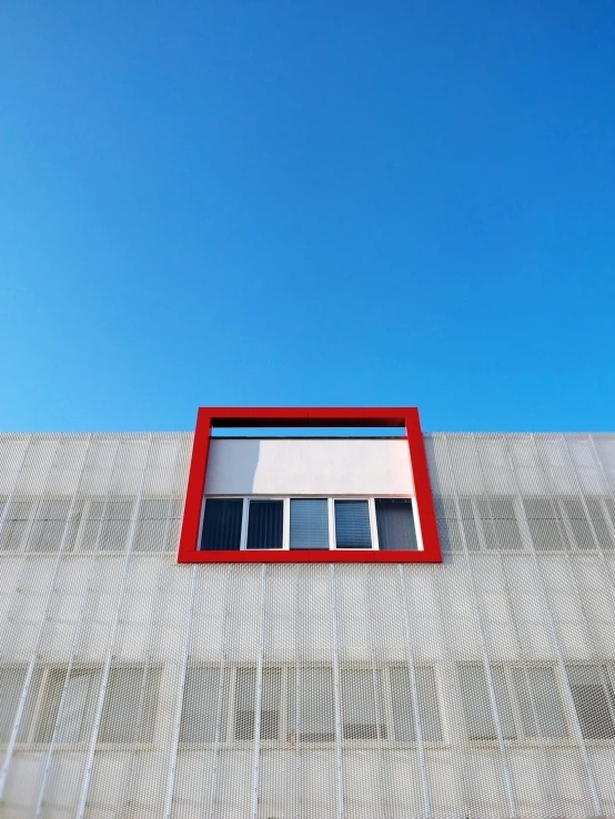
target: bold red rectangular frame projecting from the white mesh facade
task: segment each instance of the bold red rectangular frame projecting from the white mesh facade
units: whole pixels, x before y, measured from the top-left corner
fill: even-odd
[[[208,452],[213,427],[403,427],[423,549],[199,552]],[[192,444],[178,563],[442,563],[423,434],[416,407],[199,407]]]

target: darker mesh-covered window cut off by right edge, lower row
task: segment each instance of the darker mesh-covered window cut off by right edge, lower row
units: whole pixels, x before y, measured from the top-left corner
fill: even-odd
[[[615,696],[604,666],[567,668],[581,732],[585,739],[615,739]]]

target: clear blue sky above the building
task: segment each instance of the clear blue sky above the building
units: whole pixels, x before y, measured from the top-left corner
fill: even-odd
[[[613,429],[612,0],[23,0],[0,428]]]

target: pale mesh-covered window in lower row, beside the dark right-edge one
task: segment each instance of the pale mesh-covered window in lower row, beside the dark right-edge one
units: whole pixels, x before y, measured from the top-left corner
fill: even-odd
[[[568,735],[552,667],[494,666],[491,676],[504,739],[553,740]],[[495,740],[497,735],[484,666],[461,666],[460,684],[468,739]]]

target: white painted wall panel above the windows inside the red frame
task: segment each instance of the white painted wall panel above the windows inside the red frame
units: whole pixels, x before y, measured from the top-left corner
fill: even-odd
[[[213,438],[206,495],[413,495],[404,438]]]

